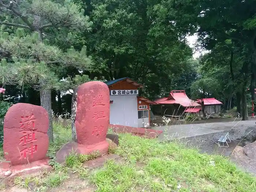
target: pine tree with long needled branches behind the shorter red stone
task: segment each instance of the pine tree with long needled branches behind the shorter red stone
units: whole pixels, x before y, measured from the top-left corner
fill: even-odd
[[[40,90],[41,106],[49,114],[48,136],[53,140],[51,89],[61,87],[54,68],[90,70],[91,61],[86,47],[80,52],[72,47],[63,52],[49,44],[45,31],[90,30],[92,23],[70,1],[0,0],[0,6],[0,56],[5,58],[0,64],[2,83]]]

